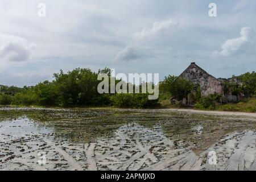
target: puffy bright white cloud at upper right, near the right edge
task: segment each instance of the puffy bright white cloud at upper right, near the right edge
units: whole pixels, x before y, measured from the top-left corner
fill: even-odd
[[[241,28],[240,38],[228,39],[221,46],[221,51],[214,51],[213,55],[229,56],[240,51],[243,46],[253,41],[253,30],[250,27]]]

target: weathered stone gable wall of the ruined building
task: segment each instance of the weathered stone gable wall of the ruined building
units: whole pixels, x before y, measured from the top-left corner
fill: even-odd
[[[209,96],[209,94],[214,93],[223,94],[221,82],[212,75],[209,75],[196,63],[191,63],[179,77],[186,78],[194,84],[199,84],[202,96]]]

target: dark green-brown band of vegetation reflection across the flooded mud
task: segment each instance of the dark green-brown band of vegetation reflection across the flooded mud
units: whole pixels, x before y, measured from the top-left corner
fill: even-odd
[[[28,117],[36,126],[54,129],[56,137],[75,142],[90,142],[99,137],[111,137],[119,127],[138,123],[152,129],[162,128],[172,140],[192,144],[197,150],[217,142],[232,131],[256,129],[255,123],[225,120],[200,114],[167,113],[161,110],[111,109],[5,109],[0,110],[0,121]],[[201,126],[201,133],[195,128]]]

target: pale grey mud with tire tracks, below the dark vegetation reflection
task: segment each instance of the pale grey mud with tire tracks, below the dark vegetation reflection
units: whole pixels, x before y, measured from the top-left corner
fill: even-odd
[[[90,143],[58,139],[53,133],[29,133],[15,139],[3,134],[0,170],[256,169],[256,131],[227,134],[198,155],[193,152],[195,146],[167,138],[161,125],[150,129],[137,123],[123,125],[112,136]],[[44,166],[37,164],[39,151],[47,152]],[[208,163],[209,151],[217,152],[216,166]]]

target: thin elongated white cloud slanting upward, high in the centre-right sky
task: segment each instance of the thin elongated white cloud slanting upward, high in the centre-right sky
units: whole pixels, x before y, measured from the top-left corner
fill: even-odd
[[[177,26],[177,22],[176,20],[170,18],[168,20],[164,20],[162,22],[155,22],[152,27],[150,28],[143,28],[142,31],[140,32],[135,32],[133,34],[133,37],[136,40],[141,40],[141,39],[146,39],[146,38],[150,38],[152,36],[157,36],[159,35],[161,32],[165,31],[165,30],[169,30],[170,28],[174,28]]]

